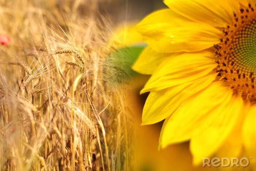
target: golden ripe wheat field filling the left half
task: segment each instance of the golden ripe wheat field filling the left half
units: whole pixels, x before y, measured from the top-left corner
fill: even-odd
[[[102,3],[0,1],[12,41],[0,47],[0,170],[135,169],[130,92],[105,79],[118,45]]]

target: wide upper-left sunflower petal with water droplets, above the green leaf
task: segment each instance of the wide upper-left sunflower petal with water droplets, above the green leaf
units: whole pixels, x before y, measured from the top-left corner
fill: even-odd
[[[204,50],[219,43],[222,35],[216,28],[193,22],[170,9],[151,13],[136,30],[148,46],[160,53]]]

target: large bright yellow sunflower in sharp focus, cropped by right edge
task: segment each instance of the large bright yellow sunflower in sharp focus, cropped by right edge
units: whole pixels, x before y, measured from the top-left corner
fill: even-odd
[[[256,157],[255,0],[165,0],[135,28],[152,75],[142,125],[165,119],[159,147],[190,140],[193,163],[225,149]]]

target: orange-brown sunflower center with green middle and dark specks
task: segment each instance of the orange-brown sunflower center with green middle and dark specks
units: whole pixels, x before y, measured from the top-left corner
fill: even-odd
[[[218,72],[242,97],[256,101],[256,13],[249,3],[234,13],[235,23],[223,30],[216,48]]]

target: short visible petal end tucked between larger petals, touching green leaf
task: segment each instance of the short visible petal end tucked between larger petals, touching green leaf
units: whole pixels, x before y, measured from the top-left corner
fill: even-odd
[[[132,69],[140,74],[151,75],[163,60],[170,55],[170,53],[158,53],[152,48],[146,47],[133,64]]]

